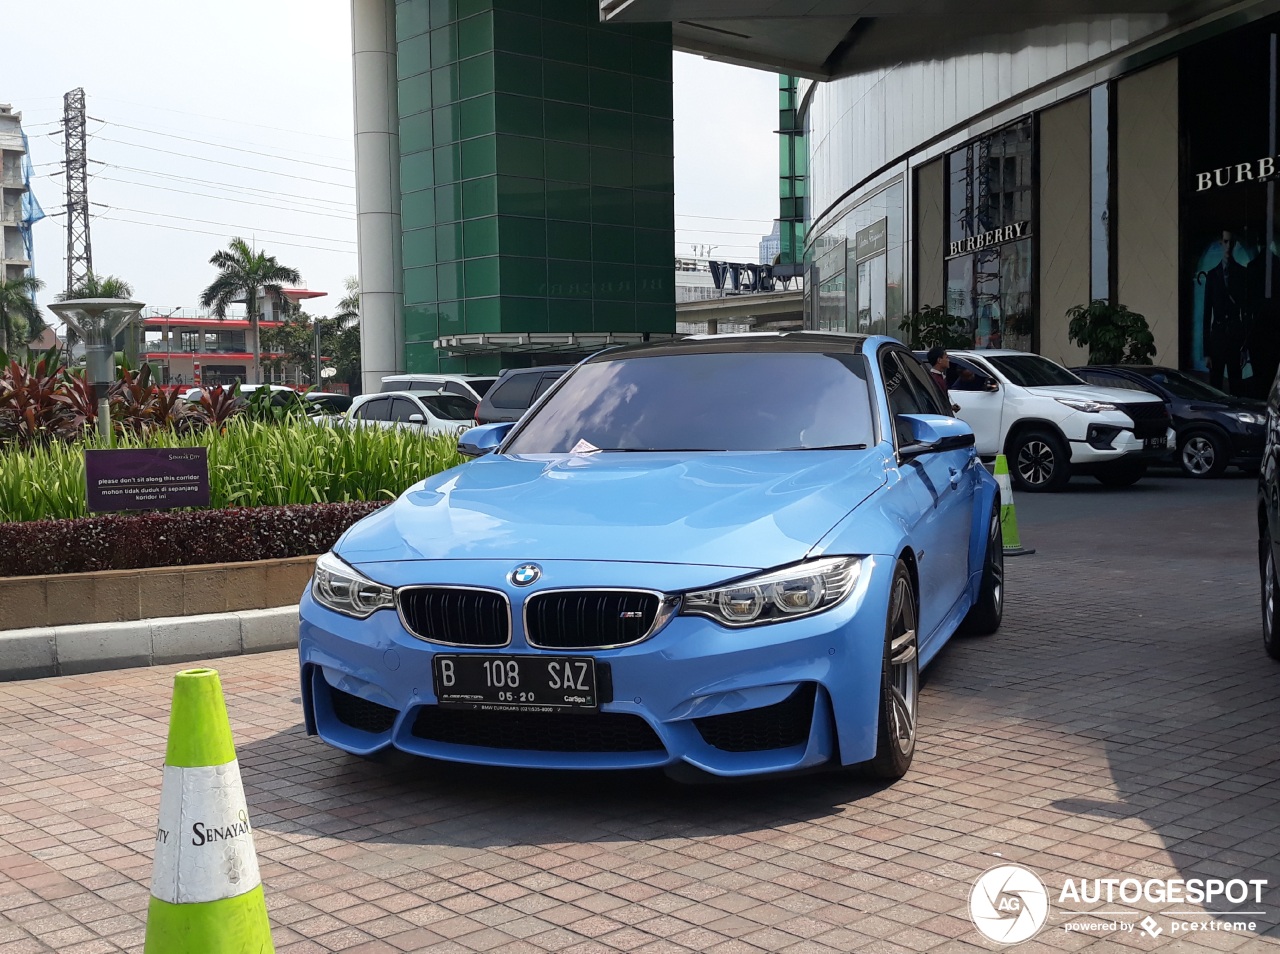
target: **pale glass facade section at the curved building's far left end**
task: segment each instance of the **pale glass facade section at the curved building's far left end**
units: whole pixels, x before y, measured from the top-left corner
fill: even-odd
[[[805,328],[899,336],[904,314],[901,181],[863,200],[814,239],[809,264],[817,297]]]

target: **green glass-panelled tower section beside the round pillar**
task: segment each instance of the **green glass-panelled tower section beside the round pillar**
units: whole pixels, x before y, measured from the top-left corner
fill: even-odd
[[[669,26],[593,0],[396,8],[408,371],[444,336],[675,330]]]

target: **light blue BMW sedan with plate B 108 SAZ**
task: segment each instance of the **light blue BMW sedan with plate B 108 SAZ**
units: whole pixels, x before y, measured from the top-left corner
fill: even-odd
[[[319,558],[307,731],[507,767],[902,776],[919,670],[1004,606],[996,481],[947,410],[884,337],[586,360]]]

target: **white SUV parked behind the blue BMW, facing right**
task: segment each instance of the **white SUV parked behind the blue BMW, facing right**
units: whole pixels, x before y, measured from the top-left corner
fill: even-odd
[[[1024,351],[947,355],[956,416],[973,428],[980,456],[1005,455],[1023,490],[1061,490],[1073,474],[1128,487],[1175,441],[1169,408],[1155,394],[1087,384]]]

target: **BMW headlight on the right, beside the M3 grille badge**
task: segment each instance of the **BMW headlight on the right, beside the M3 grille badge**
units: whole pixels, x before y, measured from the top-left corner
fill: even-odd
[[[824,557],[759,576],[686,593],[682,616],[707,616],[726,626],[781,622],[829,610],[858,583],[859,557]]]

